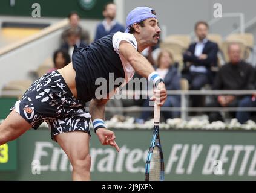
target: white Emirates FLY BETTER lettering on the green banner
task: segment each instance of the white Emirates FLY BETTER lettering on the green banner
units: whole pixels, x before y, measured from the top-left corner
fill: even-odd
[[[128,147],[128,144],[120,147],[120,153],[116,153],[112,147],[90,148],[91,172],[143,174],[148,150]],[[212,144],[205,149],[203,144],[173,144],[169,148],[169,157],[165,157],[166,175],[192,175],[197,165],[202,175],[256,176],[255,145]],[[168,152],[165,153],[168,155]],[[30,163],[33,160],[40,163],[41,173],[70,172],[72,169],[64,151],[53,142],[36,142]],[[38,165],[33,163],[32,171],[38,174]]]

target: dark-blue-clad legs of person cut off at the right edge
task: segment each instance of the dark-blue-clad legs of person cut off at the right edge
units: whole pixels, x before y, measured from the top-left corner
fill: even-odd
[[[256,77],[256,73],[255,73]],[[256,78],[254,79],[254,89],[256,89]],[[243,98],[239,104],[238,107],[256,107],[256,93],[252,94],[251,96],[246,96]],[[252,119],[255,121],[256,119],[256,111],[251,112],[251,111],[240,111],[238,109],[236,118],[238,119],[238,122],[241,124],[244,124],[246,121]]]

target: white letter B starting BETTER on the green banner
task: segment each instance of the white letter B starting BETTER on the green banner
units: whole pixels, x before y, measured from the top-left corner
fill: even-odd
[[[203,175],[212,174],[214,169],[214,161],[218,159],[218,155],[220,154],[220,145],[214,144],[210,145],[208,155],[205,160],[205,164],[203,165]]]

